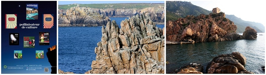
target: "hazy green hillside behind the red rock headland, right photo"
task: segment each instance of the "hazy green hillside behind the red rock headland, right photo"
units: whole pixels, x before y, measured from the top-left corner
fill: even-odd
[[[202,7],[193,5],[191,2],[166,1],[166,21],[177,20],[178,18],[184,18],[187,15],[198,16],[200,14],[209,15],[210,13],[212,12],[203,9]],[[225,15],[225,17],[233,21],[234,24],[237,26],[236,33],[243,33],[247,26],[254,28],[258,33],[265,32],[265,27],[261,23],[244,21],[234,15]]]

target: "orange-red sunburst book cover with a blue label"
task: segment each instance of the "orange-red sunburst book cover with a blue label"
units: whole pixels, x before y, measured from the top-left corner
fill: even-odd
[[[43,28],[53,28],[53,14],[43,14]]]

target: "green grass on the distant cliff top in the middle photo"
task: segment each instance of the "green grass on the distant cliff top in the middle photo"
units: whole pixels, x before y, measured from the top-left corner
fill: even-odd
[[[79,4],[80,7],[90,7],[90,8],[98,8],[98,9],[143,9],[147,7],[155,7],[155,6],[164,6],[164,3],[117,3],[117,4]],[[58,9],[70,9],[71,7],[77,6],[76,4],[67,4],[67,5],[58,5]]]

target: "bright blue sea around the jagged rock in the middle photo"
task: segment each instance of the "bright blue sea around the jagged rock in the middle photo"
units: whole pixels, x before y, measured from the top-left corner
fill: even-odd
[[[119,25],[127,17],[110,17]],[[128,18],[127,18],[128,19]],[[164,25],[156,25],[163,28]],[[59,27],[58,28],[58,68],[64,72],[84,74],[91,69],[95,60],[94,52],[101,41],[101,26],[98,27]]]

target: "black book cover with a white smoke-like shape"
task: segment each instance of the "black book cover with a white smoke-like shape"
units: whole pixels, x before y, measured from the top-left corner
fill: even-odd
[[[9,45],[19,45],[19,33],[9,33]]]

